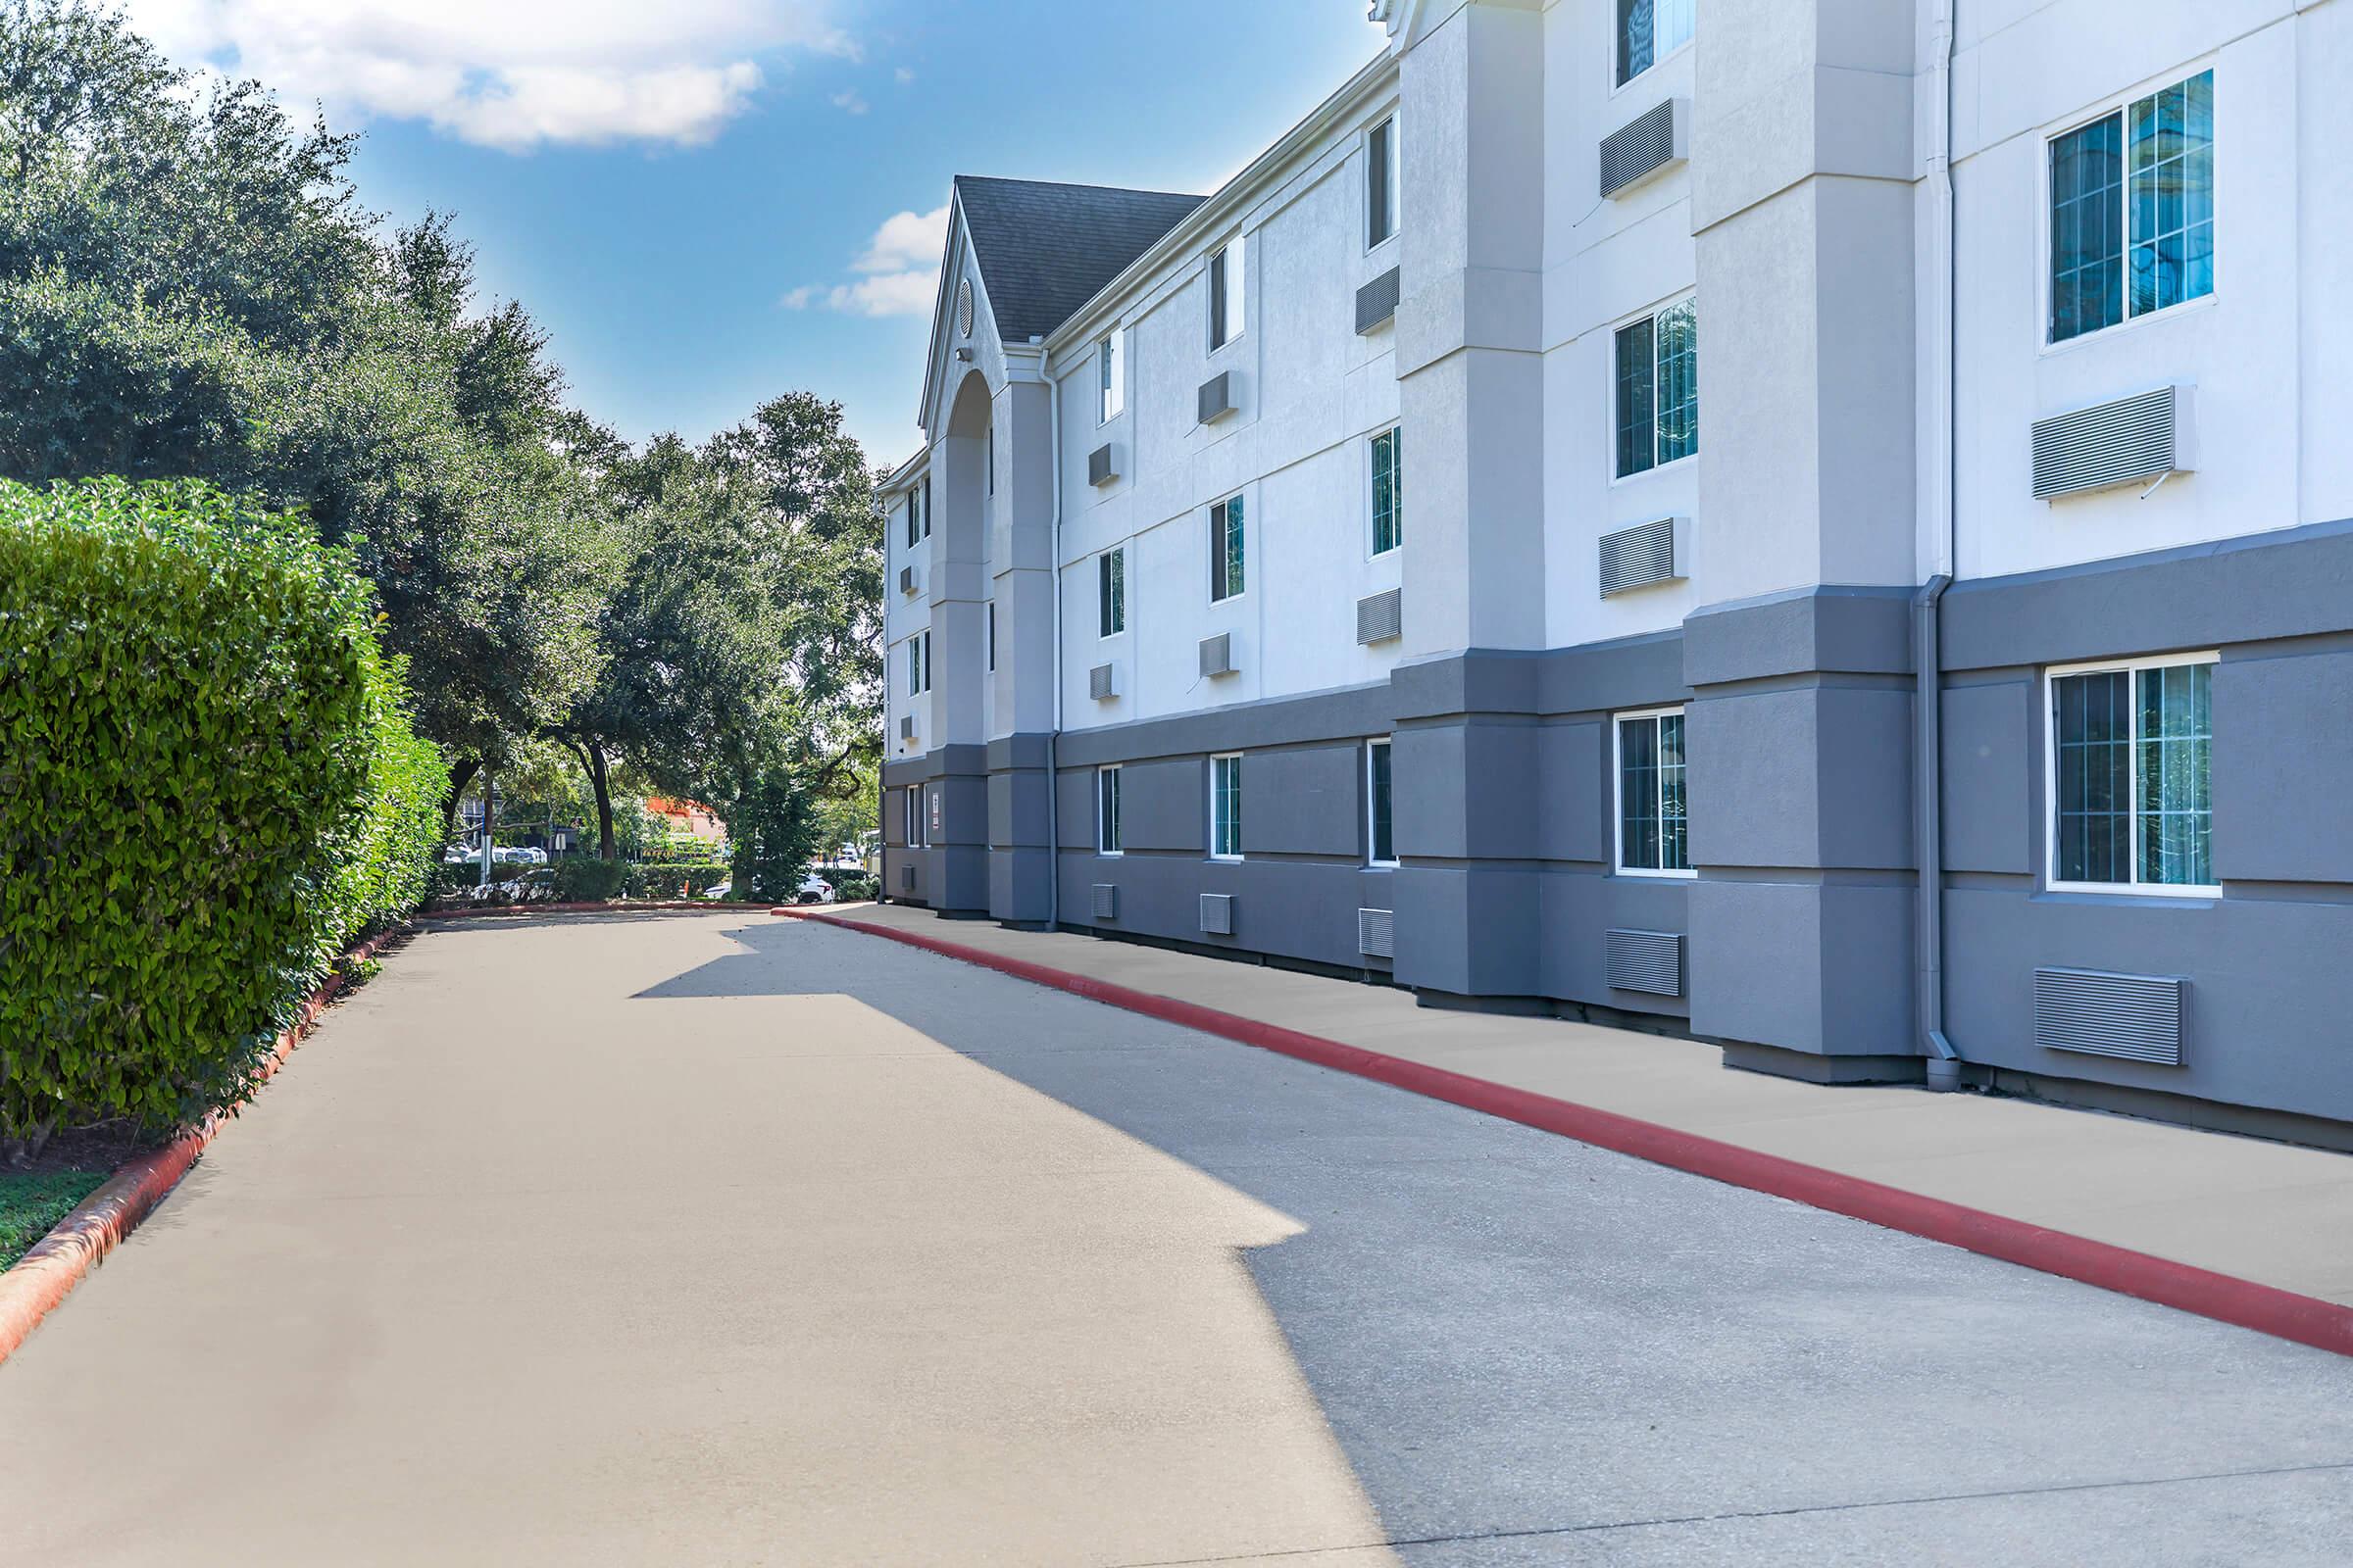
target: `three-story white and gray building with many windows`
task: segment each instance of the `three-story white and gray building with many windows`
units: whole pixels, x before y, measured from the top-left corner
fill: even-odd
[[[2353,1143],[2353,0],[1374,14],[955,183],[885,893]]]

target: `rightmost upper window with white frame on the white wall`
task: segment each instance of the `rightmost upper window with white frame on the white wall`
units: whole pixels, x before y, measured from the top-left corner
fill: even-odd
[[[2214,73],[2052,136],[2052,343],[2214,292]]]

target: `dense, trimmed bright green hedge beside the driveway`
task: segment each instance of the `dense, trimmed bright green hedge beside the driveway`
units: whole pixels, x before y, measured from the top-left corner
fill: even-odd
[[[0,1138],[238,1098],[447,778],[367,583],[200,484],[0,482]]]

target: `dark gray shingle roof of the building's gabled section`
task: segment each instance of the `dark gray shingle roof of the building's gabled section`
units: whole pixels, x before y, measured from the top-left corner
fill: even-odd
[[[979,174],[958,174],[955,195],[1005,343],[1061,327],[1205,200]]]

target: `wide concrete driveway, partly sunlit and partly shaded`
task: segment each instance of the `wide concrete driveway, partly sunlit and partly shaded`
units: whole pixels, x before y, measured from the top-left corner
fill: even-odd
[[[2348,1540],[2353,1361],[765,914],[428,931],[0,1366],[0,1561]]]

